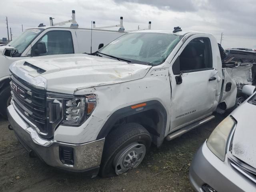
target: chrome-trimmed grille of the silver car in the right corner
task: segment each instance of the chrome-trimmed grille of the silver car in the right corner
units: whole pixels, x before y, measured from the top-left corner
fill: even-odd
[[[256,169],[252,166],[242,162],[232,154],[229,154],[230,165],[238,172],[246,176],[248,179],[256,183]]]

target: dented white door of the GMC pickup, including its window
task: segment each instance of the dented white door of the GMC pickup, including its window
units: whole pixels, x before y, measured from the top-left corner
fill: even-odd
[[[171,63],[170,131],[209,116],[218,106],[221,61],[219,52],[216,58],[217,43],[216,47],[212,44],[210,37],[190,38]]]

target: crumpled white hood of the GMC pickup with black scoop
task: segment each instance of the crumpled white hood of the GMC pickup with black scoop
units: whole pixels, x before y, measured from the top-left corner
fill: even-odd
[[[150,68],[87,54],[40,56],[20,60],[10,66],[10,70],[20,78],[34,78],[30,82],[36,82],[36,86],[44,84],[48,91],[67,94],[140,79]],[[42,79],[45,79],[44,83],[40,82]]]

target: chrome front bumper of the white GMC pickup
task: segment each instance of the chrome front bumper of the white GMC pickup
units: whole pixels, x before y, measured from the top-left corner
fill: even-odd
[[[35,152],[46,164],[64,170],[81,172],[99,168],[105,139],[84,144],[70,144],[40,138],[36,130],[22,118],[13,105],[7,108],[8,120],[16,137],[26,150]],[[72,130],[71,130],[72,131]],[[59,147],[70,147],[74,151],[74,165],[60,160]]]

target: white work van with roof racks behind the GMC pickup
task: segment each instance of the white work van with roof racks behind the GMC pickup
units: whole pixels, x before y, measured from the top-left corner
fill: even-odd
[[[26,57],[90,53],[98,50],[99,44],[108,44],[112,40],[125,34],[120,18],[120,30],[104,30],[98,28],[78,28],[75,20],[75,11],[72,11],[71,25],[66,22],[50,26],[43,24],[27,29],[18,38],[6,46],[0,46],[0,114],[6,117],[6,108],[10,104],[9,67],[12,62]]]

